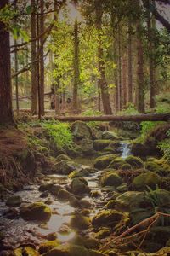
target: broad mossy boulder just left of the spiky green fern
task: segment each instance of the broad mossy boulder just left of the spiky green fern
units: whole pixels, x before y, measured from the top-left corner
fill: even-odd
[[[123,212],[147,206],[150,206],[150,201],[145,198],[144,192],[127,191],[116,197],[116,208]]]

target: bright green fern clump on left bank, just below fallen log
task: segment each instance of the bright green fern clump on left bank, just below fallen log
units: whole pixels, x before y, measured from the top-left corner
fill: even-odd
[[[72,135],[69,124],[60,123],[59,121],[47,121],[42,123],[42,127],[48,132],[50,139],[56,143],[57,148],[71,147]]]

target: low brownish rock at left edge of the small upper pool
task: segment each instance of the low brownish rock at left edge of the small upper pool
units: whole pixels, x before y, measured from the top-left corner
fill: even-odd
[[[72,171],[77,170],[81,166],[71,160],[61,160],[59,163],[53,166],[53,172],[69,175]]]

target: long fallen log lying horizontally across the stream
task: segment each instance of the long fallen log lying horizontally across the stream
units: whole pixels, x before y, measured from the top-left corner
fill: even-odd
[[[157,114],[137,114],[137,115],[103,115],[103,116],[44,116],[43,119],[55,119],[62,122],[74,122],[74,121],[105,121],[105,122],[142,122],[142,121],[168,121],[170,120],[170,113]]]

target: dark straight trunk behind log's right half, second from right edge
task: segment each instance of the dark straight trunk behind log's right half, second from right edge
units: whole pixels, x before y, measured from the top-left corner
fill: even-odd
[[[141,24],[140,21],[137,23],[137,54],[138,54],[138,64],[137,64],[137,108],[139,113],[144,113],[144,56],[143,56],[143,45],[141,40]]]

